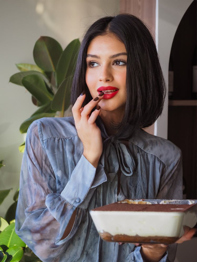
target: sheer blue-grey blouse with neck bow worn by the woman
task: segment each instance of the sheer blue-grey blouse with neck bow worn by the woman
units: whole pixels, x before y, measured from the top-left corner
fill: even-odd
[[[73,117],[38,119],[28,129],[15,230],[44,262],[143,262],[140,247],[102,241],[89,211],[125,198],[182,199],[177,146],[142,129],[130,137],[125,130],[126,139],[109,137],[100,117],[97,125],[103,138],[97,168],[83,155]],[[174,261],[175,252],[176,244],[169,245],[160,262]]]

